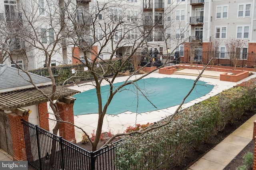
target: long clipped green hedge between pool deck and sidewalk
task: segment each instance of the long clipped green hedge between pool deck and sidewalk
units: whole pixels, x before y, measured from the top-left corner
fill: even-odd
[[[256,79],[248,80],[180,111],[165,127],[127,137],[116,150],[117,166],[123,170],[148,170],[156,169],[164,161],[178,165],[188,146],[196,149],[228,123],[254,110],[255,88]]]

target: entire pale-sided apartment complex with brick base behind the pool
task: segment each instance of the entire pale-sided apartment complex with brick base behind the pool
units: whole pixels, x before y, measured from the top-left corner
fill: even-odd
[[[192,49],[193,60],[200,61],[213,41],[218,41],[214,50],[224,53],[231,39],[243,42],[242,53],[256,52],[254,0],[70,0],[64,22],[58,2],[0,3],[1,57],[13,58],[4,63],[31,70],[44,67],[47,55],[57,66],[143,49],[160,56],[178,51],[180,61],[190,60],[186,51]]]

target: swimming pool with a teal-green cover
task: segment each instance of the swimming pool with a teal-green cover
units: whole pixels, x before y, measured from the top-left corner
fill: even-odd
[[[132,84],[122,88],[112,99],[107,114],[117,115],[125,111],[143,113],[176,106],[188,94],[193,83],[194,80],[184,78],[144,78],[136,82],[136,86],[140,87],[141,92]],[[123,82],[115,83],[114,86],[121,84]],[[207,82],[198,81],[185,103],[208,94],[213,88],[214,86]],[[109,94],[109,86],[102,86],[101,92],[102,101],[105,104]],[[152,106],[143,94],[157,108]],[[74,98],[76,98],[74,115],[98,113],[96,89],[76,94]]]

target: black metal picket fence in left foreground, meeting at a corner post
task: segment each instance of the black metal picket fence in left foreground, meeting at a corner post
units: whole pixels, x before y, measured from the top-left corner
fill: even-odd
[[[114,164],[116,145],[90,152],[37,125],[24,120],[22,123],[28,163],[38,170],[117,169]]]

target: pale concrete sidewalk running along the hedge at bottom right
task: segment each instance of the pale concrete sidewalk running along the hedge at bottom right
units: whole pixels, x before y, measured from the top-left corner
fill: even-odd
[[[222,170],[248,145],[253,137],[256,114],[206,153],[188,170]]]

